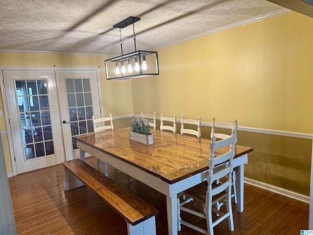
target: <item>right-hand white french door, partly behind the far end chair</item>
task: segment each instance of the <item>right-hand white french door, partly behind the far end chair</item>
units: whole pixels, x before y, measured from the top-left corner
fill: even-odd
[[[66,159],[79,158],[75,136],[92,133],[100,118],[96,71],[56,71]],[[61,104],[63,103],[63,104]]]

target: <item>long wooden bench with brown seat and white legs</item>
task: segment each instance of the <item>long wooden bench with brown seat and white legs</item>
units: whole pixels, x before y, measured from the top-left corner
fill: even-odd
[[[62,164],[65,190],[86,185],[126,220],[128,235],[156,235],[156,208],[81,159]]]

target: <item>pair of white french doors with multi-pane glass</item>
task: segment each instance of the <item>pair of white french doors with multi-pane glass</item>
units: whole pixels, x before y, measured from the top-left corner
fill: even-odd
[[[2,73],[17,173],[77,158],[73,137],[100,117],[96,71]]]

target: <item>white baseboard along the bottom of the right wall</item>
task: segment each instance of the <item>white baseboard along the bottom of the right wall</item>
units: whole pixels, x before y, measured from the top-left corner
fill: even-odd
[[[309,196],[306,196],[306,195],[303,195],[303,194],[300,194],[297,192],[292,192],[292,191],[284,189],[284,188],[279,188],[276,186],[268,185],[266,183],[252,180],[252,179],[249,179],[246,177],[245,177],[245,183],[247,183],[249,185],[253,185],[255,187],[267,189],[269,191],[281,194],[281,195],[286,196],[286,197],[296,199],[296,200],[301,201],[301,202],[310,203],[310,197]]]

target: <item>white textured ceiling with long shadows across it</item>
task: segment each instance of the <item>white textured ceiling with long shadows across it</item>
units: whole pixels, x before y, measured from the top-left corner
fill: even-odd
[[[280,11],[267,0],[0,0],[0,51],[120,55],[119,29],[130,17],[136,47],[154,50],[236,22]],[[122,29],[134,51],[133,27]]]

